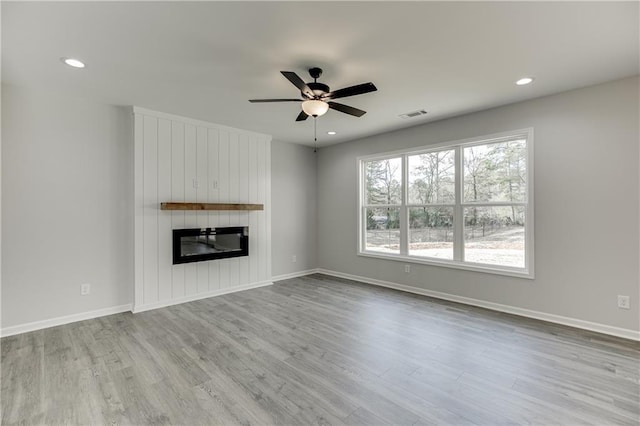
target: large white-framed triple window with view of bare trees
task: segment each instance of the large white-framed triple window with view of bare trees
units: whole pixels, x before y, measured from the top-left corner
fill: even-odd
[[[359,159],[359,254],[533,277],[533,131]]]

